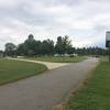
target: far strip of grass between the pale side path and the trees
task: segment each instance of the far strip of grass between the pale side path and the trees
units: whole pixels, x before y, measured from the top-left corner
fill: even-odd
[[[30,59],[36,59],[41,62],[51,62],[51,63],[77,63],[86,59],[85,56],[77,56],[77,57],[53,57],[53,56],[43,56]]]

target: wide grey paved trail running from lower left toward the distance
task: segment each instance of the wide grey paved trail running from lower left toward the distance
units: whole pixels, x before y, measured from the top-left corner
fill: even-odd
[[[0,110],[52,110],[97,66],[89,58],[0,87]]]

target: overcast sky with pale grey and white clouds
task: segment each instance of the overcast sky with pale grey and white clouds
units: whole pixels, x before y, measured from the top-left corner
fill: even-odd
[[[105,46],[110,29],[110,0],[0,0],[0,48],[69,35],[74,46]]]

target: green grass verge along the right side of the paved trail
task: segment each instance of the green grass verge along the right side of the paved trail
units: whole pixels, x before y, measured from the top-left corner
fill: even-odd
[[[110,110],[110,63],[101,62],[88,86],[68,101],[67,110]]]

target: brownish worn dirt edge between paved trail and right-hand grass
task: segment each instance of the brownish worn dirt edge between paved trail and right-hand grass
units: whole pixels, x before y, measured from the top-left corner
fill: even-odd
[[[74,87],[74,89],[72,89],[68,95],[64,98],[64,100],[62,102],[59,102],[58,105],[54,106],[52,108],[52,110],[68,110],[68,101],[69,98],[72,96],[75,96],[81,88],[84,88],[85,86],[88,85],[89,79],[92,78],[94,75],[94,70],[97,68],[97,66],[100,64],[100,61],[98,61],[98,63],[95,65],[94,68],[91,68],[88,73],[87,76],[85,77],[85,79],[79,79],[78,85],[76,87]]]

